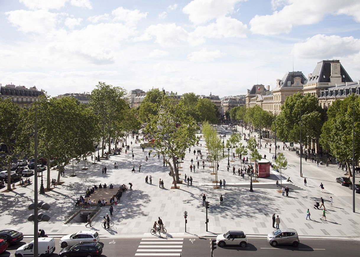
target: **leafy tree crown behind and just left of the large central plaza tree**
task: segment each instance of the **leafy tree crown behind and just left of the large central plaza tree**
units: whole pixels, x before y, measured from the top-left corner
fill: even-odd
[[[158,88],[147,91],[139,107],[139,118],[141,122],[149,122],[150,116],[155,116],[158,113],[163,97],[163,91],[160,91]]]

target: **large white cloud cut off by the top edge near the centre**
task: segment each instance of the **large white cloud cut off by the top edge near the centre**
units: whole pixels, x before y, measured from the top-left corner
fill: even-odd
[[[189,14],[191,22],[202,24],[233,12],[235,4],[240,1],[193,0],[183,8],[183,12]]]

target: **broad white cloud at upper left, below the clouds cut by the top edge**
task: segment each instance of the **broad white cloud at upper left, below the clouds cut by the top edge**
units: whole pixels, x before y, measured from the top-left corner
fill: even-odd
[[[22,32],[47,33],[58,23],[58,14],[46,10],[14,10],[6,12],[8,21]]]

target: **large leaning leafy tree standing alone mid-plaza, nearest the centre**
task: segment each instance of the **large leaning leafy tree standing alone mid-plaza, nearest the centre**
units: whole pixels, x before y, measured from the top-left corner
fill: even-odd
[[[185,150],[196,142],[197,126],[191,116],[186,115],[185,107],[174,98],[164,97],[160,102],[161,109],[150,114],[144,133],[155,139],[153,150],[163,156],[169,165],[174,180],[174,188],[180,183],[177,170],[177,157],[182,157]]]

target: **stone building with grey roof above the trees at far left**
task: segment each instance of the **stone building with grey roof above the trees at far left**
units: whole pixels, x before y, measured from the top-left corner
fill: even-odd
[[[13,84],[1,86],[0,84],[0,98],[4,100],[11,98],[21,108],[30,107],[43,94],[44,92],[37,90],[35,86],[27,89],[25,86],[15,86]]]

